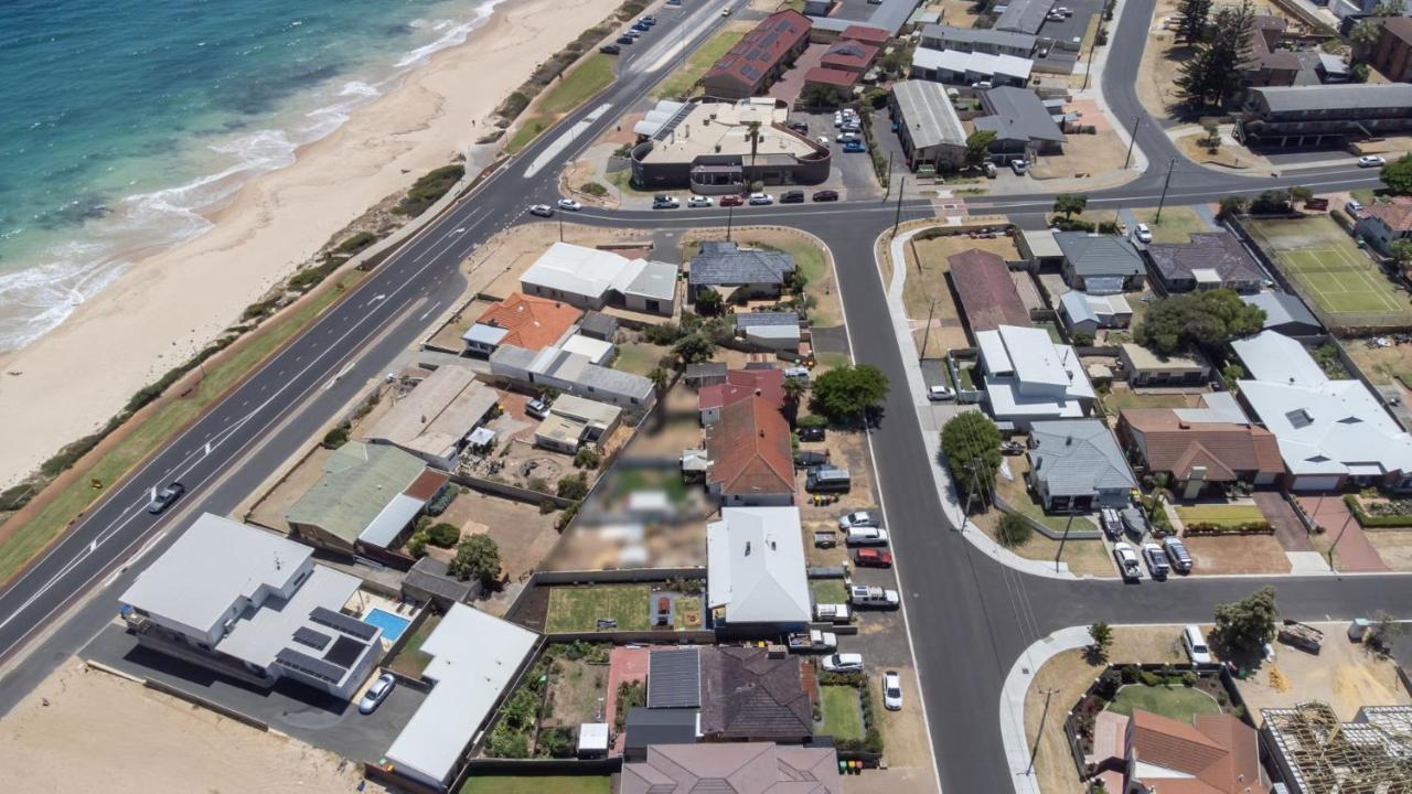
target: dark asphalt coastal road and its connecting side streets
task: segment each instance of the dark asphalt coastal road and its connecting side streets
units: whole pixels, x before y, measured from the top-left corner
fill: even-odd
[[[1118,119],[1142,113],[1131,76],[1155,0],[1127,0],[1104,72],[1104,92]],[[738,6],[740,0],[733,0]],[[706,8],[712,11],[706,14]],[[525,206],[556,198],[558,165],[587,146],[640,99],[705,35],[720,24],[717,7],[666,8],[662,24],[624,58],[620,81],[603,97],[572,114],[483,184],[469,199],[376,268],[335,311],[256,372],[136,475],[114,487],[31,571],[0,593],[0,658],[32,644],[24,664],[0,680],[0,713],[7,712],[56,664],[69,658],[113,617],[116,596],[131,581],[133,554],[160,554],[171,528],[195,510],[225,513],[250,493],[301,441],[332,418],[397,353],[425,332],[463,287],[459,263],[490,235],[521,222]],[[664,35],[665,34],[665,35]],[[582,123],[582,124],[580,124]],[[568,130],[575,130],[573,133]],[[1178,157],[1151,119],[1138,127],[1151,164],[1138,179],[1090,194],[1090,206],[1145,206],[1158,201],[1166,162]],[[1172,168],[1166,201],[1207,202],[1227,194],[1303,184],[1316,189],[1377,182],[1368,171],[1320,168],[1295,177],[1245,177],[1210,171],[1185,160]],[[1053,196],[976,196],[967,205],[1005,212],[1025,226],[1042,225]],[[818,235],[833,250],[854,357],[905,384],[895,339],[873,332],[887,316],[873,261],[873,242],[894,222],[894,203],[741,208],[734,222],[775,223]],[[931,202],[904,198],[901,218],[932,215]],[[599,212],[573,218],[623,227],[722,225],[714,211]],[[897,567],[912,619],[933,750],[949,793],[1010,790],[1000,743],[1001,682],[1022,650],[1065,626],[1093,620],[1175,623],[1206,620],[1211,608],[1244,596],[1257,578],[1173,579],[1130,586],[1067,582],[1011,571],[974,551],[946,524],[926,459],[912,396],[897,387],[874,431],[878,482],[888,506]],[[209,444],[209,448],[208,448]],[[169,514],[143,511],[148,489],[181,479],[191,489]],[[1412,616],[1409,576],[1279,578],[1274,583],[1285,615],[1341,619],[1378,609]],[[72,616],[79,596],[95,595]],[[35,643],[35,636],[47,636]]]

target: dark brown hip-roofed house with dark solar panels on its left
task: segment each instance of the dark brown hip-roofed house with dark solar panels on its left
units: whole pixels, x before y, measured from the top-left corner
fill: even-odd
[[[798,654],[762,647],[702,648],[702,736],[706,742],[779,742],[813,736],[813,705]],[[832,749],[830,749],[832,752]]]

